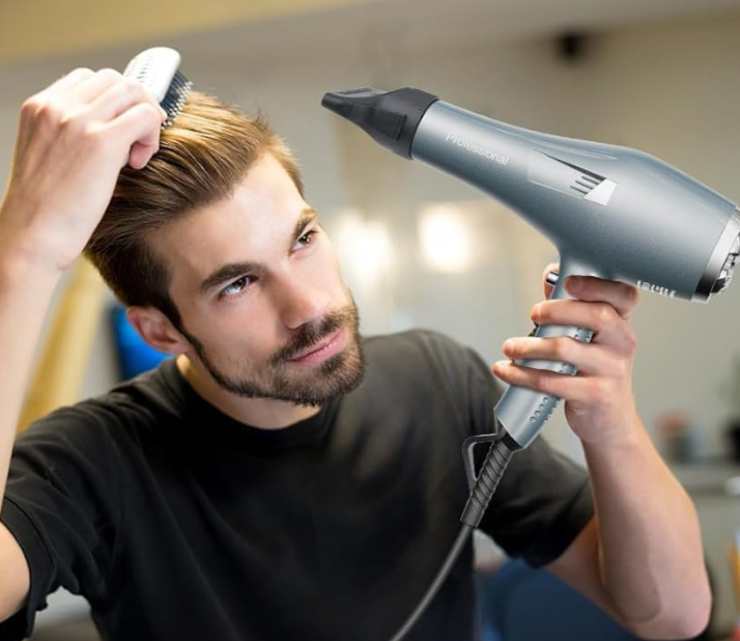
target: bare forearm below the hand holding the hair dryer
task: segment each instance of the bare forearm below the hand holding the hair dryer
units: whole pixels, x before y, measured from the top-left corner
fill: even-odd
[[[601,579],[624,621],[642,635],[695,629],[711,599],[696,511],[640,418],[629,423],[617,443],[584,443]]]

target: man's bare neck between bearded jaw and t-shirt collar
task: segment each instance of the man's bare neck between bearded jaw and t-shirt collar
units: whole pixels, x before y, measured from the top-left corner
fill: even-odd
[[[193,365],[185,354],[180,354],[175,362],[198,396],[231,418],[253,427],[265,430],[288,427],[318,414],[320,410],[319,407],[306,407],[271,398],[245,398],[222,389],[208,373]]]

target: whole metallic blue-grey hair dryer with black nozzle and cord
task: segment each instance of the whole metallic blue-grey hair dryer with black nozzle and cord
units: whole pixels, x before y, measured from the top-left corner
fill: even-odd
[[[515,127],[413,88],[331,92],[322,105],[391,151],[479,187],[545,234],[560,252],[552,298],[568,297],[565,280],[574,274],[702,302],[730,282],[740,253],[737,206],[653,156]],[[535,335],[590,341],[592,332],[540,326]],[[522,364],[576,373],[567,363]],[[478,525],[511,454],[532,442],[558,400],[510,386],[495,407],[503,432],[468,439],[463,524]],[[472,449],[482,440],[493,445],[476,478]]]

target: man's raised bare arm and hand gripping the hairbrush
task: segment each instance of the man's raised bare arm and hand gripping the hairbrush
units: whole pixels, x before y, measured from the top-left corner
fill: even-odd
[[[113,69],[75,69],[21,107],[0,202],[0,499],[52,293],[103,216],[122,167],[159,148],[164,111]],[[25,601],[28,565],[0,524],[0,621]]]

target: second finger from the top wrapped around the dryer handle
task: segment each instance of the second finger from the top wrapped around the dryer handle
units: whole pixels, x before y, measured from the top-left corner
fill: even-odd
[[[532,308],[537,325],[570,325],[594,332],[592,343],[608,345],[620,352],[634,347],[634,334],[629,323],[609,303],[584,302],[574,299],[545,300]]]

